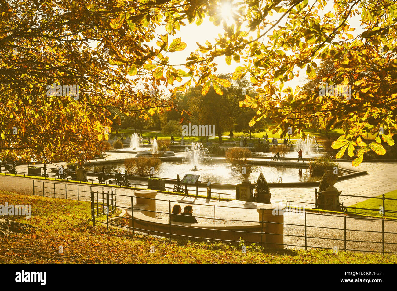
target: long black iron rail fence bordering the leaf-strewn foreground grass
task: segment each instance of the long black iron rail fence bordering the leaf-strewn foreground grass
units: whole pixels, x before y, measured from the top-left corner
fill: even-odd
[[[37,183],[39,182],[39,183]],[[51,182],[44,182],[51,183]],[[266,246],[266,235],[283,235],[283,243],[272,243],[272,245],[282,245],[283,247],[289,248],[299,248],[299,249],[333,249],[344,250],[344,251],[360,251],[360,252],[382,252],[382,254],[387,253],[397,253],[397,221],[386,220],[382,218],[357,218],[350,217],[347,215],[340,214],[321,214],[317,212],[307,212],[304,208],[293,209],[291,205],[286,210],[283,210],[284,222],[272,222],[262,219],[257,219],[258,208],[249,207],[237,207],[237,206],[222,206],[222,205],[208,205],[203,203],[195,202],[183,202],[177,200],[164,200],[164,199],[154,199],[154,198],[144,198],[156,201],[156,210],[144,210],[147,213],[155,213],[156,218],[162,218],[162,221],[169,224],[169,229],[167,232],[160,230],[148,229],[145,227],[137,227],[137,220],[134,219],[134,211],[141,212],[141,208],[136,208],[136,199],[131,193],[131,195],[120,195],[116,194],[116,190],[112,192],[112,189],[91,188],[85,190],[70,189],[67,188],[66,184],[53,183],[54,185],[44,185],[42,181],[35,181],[34,194],[44,197],[56,197],[56,198],[67,198],[67,199],[80,199],[85,201],[91,201],[91,221],[93,225],[95,223],[106,224],[106,227],[117,226],[129,229],[135,234],[135,232],[140,233],[151,233],[162,237],[172,239],[193,239],[201,241],[221,241],[219,238],[220,234],[229,232],[235,233],[237,236],[241,236],[241,239],[235,239],[227,241],[232,241],[232,243],[239,244],[241,242],[257,245]],[[55,185],[56,184],[56,185]],[[62,189],[65,191],[61,195],[57,195],[57,190],[55,190],[55,195],[53,195],[52,190],[48,189]],[[89,186],[86,186],[89,187]],[[66,190],[64,190],[66,189]],[[59,190],[61,191],[61,190]],[[68,191],[74,191],[73,195],[68,193]],[[77,191],[77,195],[76,192]],[[89,194],[88,194],[89,192]],[[44,193],[43,195],[41,195]],[[50,193],[46,195],[46,193]],[[74,197],[74,198],[71,198]],[[116,207],[116,197],[117,197],[117,207],[124,210],[131,211],[131,217],[129,216],[119,216],[115,215],[112,211],[104,211],[104,209],[110,209],[112,206]],[[188,235],[183,235],[180,232],[176,232],[175,229],[180,227],[180,225],[173,224],[171,221],[171,209],[173,204],[190,204],[194,206],[193,215],[197,218],[198,222],[209,222],[213,223],[213,235],[206,237],[200,237],[199,235],[194,235],[195,231],[197,233],[199,230],[207,230],[208,227],[195,227],[193,226],[183,226],[192,233]],[[203,211],[200,211],[201,210]],[[114,208],[113,208],[114,209]],[[292,210],[291,210],[292,209]],[[232,219],[231,217],[237,216],[236,212],[239,211],[241,216],[252,217],[251,220],[238,220]],[[278,210],[281,211],[281,208]],[[263,213],[263,212],[262,212]],[[204,215],[202,215],[204,214]],[[277,213],[274,215],[279,215]],[[106,215],[106,222],[100,218]],[[254,218],[255,217],[255,218]],[[117,218],[119,223],[114,222],[114,218]],[[120,222],[127,222],[128,225],[120,224]],[[157,221],[157,220],[156,220]],[[160,220],[159,220],[160,221]],[[222,229],[225,223],[236,223],[236,224],[249,224],[257,223],[258,229],[256,231],[242,231],[242,230],[232,230],[232,229]],[[150,224],[150,222],[148,222]],[[278,224],[283,226],[283,233],[275,233],[269,231],[268,225]],[[142,225],[142,224],[140,224]],[[244,237],[249,237],[251,234],[256,234],[256,237],[260,237],[256,241],[249,241],[244,239]]]

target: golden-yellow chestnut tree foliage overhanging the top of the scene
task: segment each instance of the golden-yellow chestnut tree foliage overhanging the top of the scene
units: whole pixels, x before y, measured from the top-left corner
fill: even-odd
[[[110,109],[148,119],[175,108],[177,91],[189,87],[222,95],[231,83],[217,77],[217,57],[240,63],[233,79],[248,77],[256,89],[240,102],[257,110],[251,125],[270,118],[275,132],[284,136],[291,127],[302,137],[318,122],[341,127],[345,134],[333,147],[341,148],[337,157],[360,147],[356,165],[368,150],[385,153],[381,141],[392,145],[396,132],[395,1],[227,2],[233,25],[222,18],[221,0],[1,0],[1,154],[87,159],[101,150],[106,127],[119,123]],[[357,37],[352,15],[364,28]],[[169,55],[187,46],[178,36],[181,26],[201,25],[206,17],[224,34],[197,44],[183,64],[170,63]],[[166,33],[156,33],[158,26]],[[317,75],[324,59],[335,69]],[[320,83],[352,85],[352,98],[284,88],[297,68]],[[79,98],[48,96],[54,83],[79,85]],[[158,91],[162,86],[166,92]],[[363,133],[375,141],[367,145]]]

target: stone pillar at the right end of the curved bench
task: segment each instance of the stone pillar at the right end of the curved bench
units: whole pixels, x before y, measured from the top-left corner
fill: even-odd
[[[273,249],[284,248],[284,209],[285,207],[270,204],[260,206],[256,210],[259,214],[259,221],[262,221],[263,217],[263,232],[266,232],[266,235],[263,235],[263,242],[266,243],[266,247]]]

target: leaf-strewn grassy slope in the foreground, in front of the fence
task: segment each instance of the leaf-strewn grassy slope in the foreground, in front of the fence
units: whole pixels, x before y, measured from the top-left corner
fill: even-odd
[[[172,241],[102,224],[92,226],[90,203],[0,191],[0,204],[32,204],[32,218],[9,216],[35,228],[0,237],[0,263],[395,263],[397,255],[332,250],[272,250]],[[58,249],[62,246],[63,253]],[[154,253],[150,253],[150,247]]]

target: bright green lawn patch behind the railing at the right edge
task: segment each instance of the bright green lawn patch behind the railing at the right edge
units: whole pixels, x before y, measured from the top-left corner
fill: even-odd
[[[378,197],[382,197],[382,195],[380,195]],[[397,199],[397,190],[394,190],[394,191],[386,193],[385,194],[385,198]],[[382,216],[382,214],[380,213],[380,207],[381,206],[383,207],[383,200],[382,199],[370,198],[368,200],[365,200],[365,201],[358,202],[356,204],[350,205],[349,207],[377,209],[376,211],[374,211],[374,210],[357,209],[357,214],[364,214],[364,215],[381,217]],[[385,216],[386,217],[397,218],[397,214],[396,213],[387,212],[387,210],[397,211],[397,200],[385,200],[385,210],[386,210],[386,212],[385,212]],[[355,209],[351,209],[351,208],[347,208],[347,211],[356,213]]]

